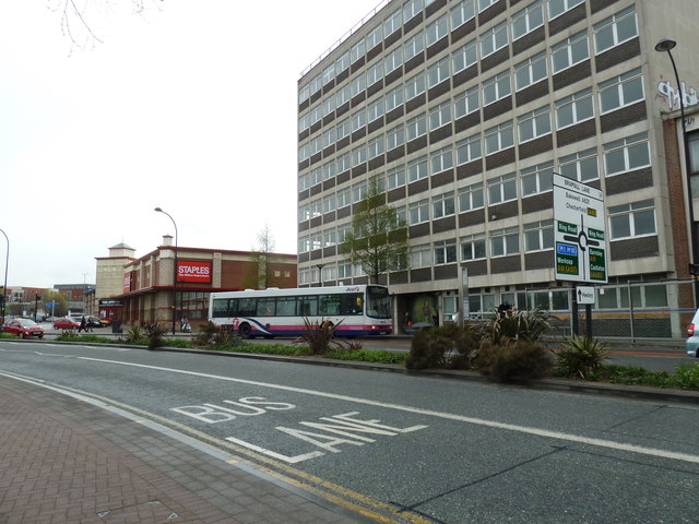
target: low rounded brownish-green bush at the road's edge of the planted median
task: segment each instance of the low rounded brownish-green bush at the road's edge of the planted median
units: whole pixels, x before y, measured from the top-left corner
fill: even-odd
[[[534,341],[501,340],[493,344],[486,338],[478,348],[477,364],[481,373],[495,379],[538,379],[549,373],[552,357]]]

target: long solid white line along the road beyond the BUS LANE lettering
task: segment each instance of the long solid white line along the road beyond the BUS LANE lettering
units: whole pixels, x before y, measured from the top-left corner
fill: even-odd
[[[366,406],[383,407],[383,408],[387,408],[387,409],[394,409],[394,410],[404,412],[404,413],[424,415],[424,416],[427,416],[427,417],[436,417],[436,418],[441,418],[441,419],[447,419],[447,420],[454,420],[454,421],[461,421],[461,422],[465,422],[465,424],[473,424],[473,425],[476,425],[476,426],[483,426],[483,427],[488,427],[488,428],[503,429],[503,430],[507,430],[507,431],[513,431],[513,432],[519,432],[519,433],[524,433],[524,434],[533,434],[533,436],[536,436],[536,437],[544,437],[544,438],[548,438],[548,439],[562,440],[562,441],[566,441],[566,442],[574,442],[574,443],[579,443],[579,444],[587,444],[587,445],[593,445],[593,446],[599,446],[599,448],[606,448],[606,449],[612,449],[612,450],[616,450],[616,451],[626,451],[626,452],[629,452],[629,453],[637,453],[637,454],[641,454],[641,455],[662,457],[662,458],[670,458],[670,460],[674,460],[674,461],[699,464],[699,455],[692,455],[692,454],[689,454],[689,453],[679,453],[679,452],[674,452],[674,451],[661,450],[661,449],[657,449],[657,448],[647,448],[647,446],[643,446],[643,445],[629,444],[629,443],[625,443],[625,442],[615,442],[613,440],[597,439],[597,438],[592,438],[592,437],[583,437],[583,436],[580,436],[580,434],[566,433],[566,432],[561,432],[561,431],[552,431],[552,430],[548,430],[548,429],[531,428],[531,427],[528,427],[528,426],[519,426],[519,425],[514,425],[514,424],[499,422],[497,420],[488,420],[488,419],[484,419],[484,418],[467,417],[467,416],[457,415],[457,414],[452,414],[452,413],[436,412],[436,410],[433,410],[433,409],[424,409],[424,408],[420,408],[420,407],[404,406],[404,405],[401,405],[401,404],[393,404],[393,403],[387,403],[387,402],[372,401],[372,400],[369,400],[369,398],[359,398],[359,397],[354,397],[354,396],[341,395],[341,394],[337,394],[337,393],[328,393],[328,392],[323,392],[323,391],[309,390],[309,389],[306,389],[306,388],[296,388],[296,386],[292,386],[292,385],[273,384],[273,383],[269,383],[269,382],[260,382],[260,381],[246,380],[246,379],[235,379],[235,378],[230,378],[230,377],[222,377],[222,376],[211,374],[211,373],[201,373],[201,372],[197,372],[197,371],[188,371],[188,370],[173,369],[173,368],[163,368],[163,367],[159,367],[159,366],[149,366],[149,365],[143,365],[143,364],[132,364],[132,362],[120,362],[118,360],[106,360],[106,359],[90,358],[90,357],[78,357],[78,358],[83,359],[83,360],[97,361],[97,362],[116,364],[116,365],[127,366],[127,367],[153,369],[153,370],[178,373],[178,374],[188,374],[188,376],[192,376],[192,377],[201,377],[201,378],[206,378],[206,379],[221,380],[221,381],[224,381],[224,382],[235,382],[235,383],[239,383],[239,384],[249,384],[249,385],[256,385],[256,386],[259,386],[259,388],[269,388],[269,389],[279,390],[279,391],[289,391],[289,392],[294,392],[294,393],[313,395],[313,396],[319,396],[319,397],[323,397],[323,398],[333,398],[333,400],[336,400],[336,401],[345,401],[345,402],[351,402],[351,403],[354,403],[354,404],[363,404],[363,405],[366,405]]]

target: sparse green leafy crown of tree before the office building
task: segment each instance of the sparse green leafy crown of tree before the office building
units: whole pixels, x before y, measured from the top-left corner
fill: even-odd
[[[340,246],[353,264],[362,266],[369,282],[389,271],[407,267],[407,225],[395,209],[386,203],[386,193],[376,177],[369,179],[367,195],[352,217],[352,230]]]

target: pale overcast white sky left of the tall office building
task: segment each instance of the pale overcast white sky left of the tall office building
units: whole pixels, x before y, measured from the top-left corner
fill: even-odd
[[[296,253],[297,81],[379,0],[142,2],[76,1],[84,46],[64,0],[0,0],[8,287],[94,284],[110,247],[175,236],[158,206],[180,247],[250,250],[268,227]]]

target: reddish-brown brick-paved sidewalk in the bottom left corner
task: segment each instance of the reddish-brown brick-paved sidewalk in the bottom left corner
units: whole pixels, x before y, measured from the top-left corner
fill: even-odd
[[[0,377],[2,524],[362,522],[134,420]]]

